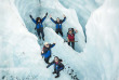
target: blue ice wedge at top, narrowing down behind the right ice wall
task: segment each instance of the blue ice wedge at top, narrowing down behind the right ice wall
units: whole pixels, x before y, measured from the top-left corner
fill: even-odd
[[[75,9],[78,21],[82,26],[85,39],[85,25],[91,15],[91,13],[101,6],[104,0],[58,0],[65,8]]]

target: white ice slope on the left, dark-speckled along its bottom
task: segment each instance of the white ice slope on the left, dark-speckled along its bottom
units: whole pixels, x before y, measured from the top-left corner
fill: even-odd
[[[0,3],[0,80],[53,80],[39,54],[37,37],[26,29],[11,4],[8,0]],[[69,80],[64,72],[61,78]]]

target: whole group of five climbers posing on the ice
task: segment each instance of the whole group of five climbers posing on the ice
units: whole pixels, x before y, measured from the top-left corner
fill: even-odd
[[[39,39],[41,39],[42,36],[42,40],[44,41],[44,31],[43,31],[43,25],[42,23],[44,22],[44,19],[48,16],[48,13],[45,13],[45,16],[43,18],[41,17],[37,17],[36,19],[32,18],[31,15],[29,15],[30,18],[32,19],[32,22],[36,24],[36,30],[38,32]],[[56,21],[54,21],[52,18],[52,16],[50,15],[50,19],[56,25],[56,29],[55,32],[58,35],[61,34],[61,36],[63,37],[63,28],[62,28],[62,24],[66,21],[66,16],[64,16],[64,19],[60,19],[58,17],[56,18]],[[71,48],[75,50],[75,34],[77,34],[77,29],[74,28],[69,28],[68,32],[67,32],[67,42],[68,45],[70,45],[71,43]],[[41,34],[41,36],[40,36]],[[60,59],[57,56],[54,57],[53,62],[49,62],[52,55],[51,49],[55,45],[56,43],[50,44],[48,42],[44,43],[44,46],[42,49],[41,55],[42,57],[44,57],[44,62],[48,64],[47,68],[49,68],[51,65],[54,65],[54,71],[53,74],[56,74],[55,78],[60,77],[60,71],[64,69],[64,65],[62,64],[62,59]]]

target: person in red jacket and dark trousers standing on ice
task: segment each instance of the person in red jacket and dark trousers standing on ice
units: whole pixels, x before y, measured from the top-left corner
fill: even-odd
[[[67,40],[68,40],[68,45],[70,45],[71,43],[71,48],[75,50],[75,34],[77,34],[78,31],[74,28],[69,28],[68,32],[67,32]]]

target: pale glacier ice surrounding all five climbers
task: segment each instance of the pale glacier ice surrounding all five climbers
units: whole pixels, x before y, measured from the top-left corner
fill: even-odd
[[[74,74],[81,80],[119,80],[118,0],[105,0],[100,9],[91,13],[85,26],[87,44],[75,8],[66,9],[58,0],[0,1],[2,1],[0,2],[0,79],[55,80],[52,76],[53,67],[47,69],[40,56],[42,46],[38,44],[39,40],[34,35],[35,24],[29,18],[29,14],[34,17],[43,17],[50,9],[49,13],[54,18],[57,16],[62,18],[62,14],[67,14],[68,18],[63,24],[65,35],[67,28],[71,26],[79,30],[77,34],[79,44],[76,48],[79,51],[77,52],[64,43],[65,37],[62,38],[55,34],[55,25],[49,17],[43,24],[45,41],[56,42],[52,56],[60,56],[66,67],[58,80],[71,80],[67,74],[70,69],[74,69]],[[95,1],[100,4],[103,2],[103,0]],[[50,61],[52,59],[53,57]]]

